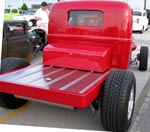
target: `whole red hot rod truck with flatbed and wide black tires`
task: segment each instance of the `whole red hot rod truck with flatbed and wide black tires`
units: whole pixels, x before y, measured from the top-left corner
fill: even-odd
[[[74,108],[91,105],[100,111],[106,130],[126,131],[136,93],[135,76],[128,70],[136,49],[132,14],[127,3],[118,1],[54,4],[43,63],[28,66],[20,58],[2,60],[0,105],[18,108],[25,98]],[[140,70],[147,69],[147,58],[148,48],[142,47],[136,57]]]

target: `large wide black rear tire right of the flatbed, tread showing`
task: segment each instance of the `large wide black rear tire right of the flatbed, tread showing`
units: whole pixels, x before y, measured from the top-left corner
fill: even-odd
[[[131,93],[133,102],[129,101]],[[123,70],[111,72],[104,84],[101,103],[101,120],[106,130],[125,132],[129,128],[134,111],[135,93],[136,84],[132,72]]]

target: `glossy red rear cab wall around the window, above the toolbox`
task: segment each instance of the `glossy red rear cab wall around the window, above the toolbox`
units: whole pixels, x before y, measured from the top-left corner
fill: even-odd
[[[102,12],[103,24],[101,26],[69,25],[68,14],[76,10]],[[48,43],[57,48],[78,49],[79,51],[85,47],[86,50],[91,51],[89,45],[94,46],[95,49],[107,47],[111,49],[111,59],[108,59],[110,66],[127,69],[132,50],[132,10],[128,4],[119,1],[90,0],[56,3],[50,13]],[[46,47],[44,50],[45,64],[49,60],[48,49]],[[84,58],[79,62],[83,60]],[[72,62],[70,59],[66,61]]]

